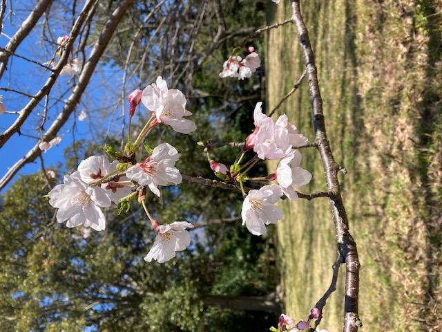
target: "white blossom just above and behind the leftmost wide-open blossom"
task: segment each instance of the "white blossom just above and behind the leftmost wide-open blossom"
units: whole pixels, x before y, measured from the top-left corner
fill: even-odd
[[[110,163],[106,156],[90,156],[85,160],[81,160],[81,163],[78,165],[78,172],[82,181],[91,183],[115,172],[117,170],[117,163],[117,160]],[[122,176],[115,181],[108,181],[101,185],[106,195],[115,204],[118,204],[120,199],[132,192],[131,185],[120,183],[119,181],[128,181],[128,178]]]

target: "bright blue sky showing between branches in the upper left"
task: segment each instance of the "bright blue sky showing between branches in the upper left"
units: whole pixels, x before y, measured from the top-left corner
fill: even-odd
[[[3,21],[3,33],[0,36],[0,46],[4,47],[8,43],[8,37],[12,36],[19,28],[23,18],[29,14],[30,8],[35,1],[21,1],[15,3],[15,15],[7,15]],[[81,3],[77,8],[81,8]],[[18,8],[20,6],[20,8]],[[23,10],[20,10],[23,9]],[[62,15],[71,15],[62,14]],[[70,30],[72,17],[60,20],[54,19],[52,22],[51,33],[57,38],[59,35],[67,35]],[[50,42],[41,40],[41,21],[39,25],[24,39],[16,53],[18,55],[26,56],[30,59],[35,59],[40,63],[47,62],[55,50],[55,46]],[[86,53],[86,56],[88,52]],[[12,62],[11,62],[12,59]],[[17,89],[25,93],[34,94],[46,82],[48,78],[48,71],[35,64],[19,59],[18,57],[11,57],[8,70],[3,74],[0,80],[0,86],[4,88]],[[106,84],[103,84],[106,82]],[[61,143],[58,146],[52,147],[49,151],[43,154],[45,166],[49,168],[50,165],[57,165],[63,162],[63,154],[66,147],[70,147],[73,143],[74,136],[76,140],[86,138],[93,140],[97,137],[98,131],[107,131],[115,133],[117,129],[121,128],[122,122],[122,104],[119,100],[121,91],[118,86],[121,86],[122,73],[118,68],[110,65],[100,66],[97,72],[93,75],[92,80],[88,84],[86,91],[81,98],[81,102],[75,111],[75,116],[72,114],[65,126],[59,131],[62,137]],[[50,124],[57,117],[63,102],[57,102],[57,98],[63,95],[62,100],[66,99],[72,89],[73,78],[68,76],[59,77],[55,86],[50,93],[50,108],[48,111],[48,120],[46,121],[45,129],[50,127]],[[128,84],[128,91],[131,86]],[[67,92],[67,93],[66,93]],[[66,94],[64,94],[66,93]],[[27,104],[29,98],[18,93],[0,91],[3,95],[3,104],[8,111],[19,111]],[[77,116],[81,110],[86,111],[88,117],[83,122],[77,120]],[[23,135],[19,136],[17,133],[10,138],[10,140],[0,149],[0,171],[1,176],[7,171],[8,167],[22,158],[26,152],[31,149],[38,138],[41,137],[41,131],[36,130],[41,121],[41,113],[44,111],[44,100],[32,111],[26,124],[22,127]],[[104,113],[103,113],[104,112]],[[9,127],[17,118],[17,115],[2,114],[0,115],[0,130],[3,132]],[[75,126],[75,127],[74,127]],[[32,137],[30,137],[32,136]],[[23,167],[19,174],[30,174],[37,172],[40,169],[39,159],[35,163],[31,163]],[[11,181],[17,180],[18,176]],[[8,188],[7,187],[7,188]]]

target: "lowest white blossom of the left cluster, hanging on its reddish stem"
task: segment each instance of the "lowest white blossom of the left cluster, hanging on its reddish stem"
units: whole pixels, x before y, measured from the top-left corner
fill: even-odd
[[[155,237],[155,242],[144,260],[155,259],[158,263],[164,263],[175,257],[177,251],[186,249],[191,243],[187,228],[193,228],[193,225],[186,221],[175,221],[169,225],[155,223],[157,237]]]

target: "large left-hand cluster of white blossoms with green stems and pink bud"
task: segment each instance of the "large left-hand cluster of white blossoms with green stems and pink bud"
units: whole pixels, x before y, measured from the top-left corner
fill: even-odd
[[[66,40],[60,40],[60,46],[65,42]],[[128,102],[130,117],[141,103],[150,111],[151,117],[135,142],[132,143],[129,138],[126,156],[108,147],[106,152],[112,160],[104,155],[82,160],[73,174],[65,175],[63,183],[49,192],[49,203],[58,209],[59,223],[66,223],[69,228],[81,226],[86,238],[89,232],[85,230],[89,228],[97,231],[106,229],[104,208],[110,207],[112,203],[121,208],[122,205],[128,206],[131,200],[138,199],[157,232],[153,246],[144,259],[155,259],[162,263],[175,257],[175,252],[189,246],[191,239],[187,229],[193,225],[186,221],[159,225],[148,212],[144,200],[147,188],[160,196],[160,186],[178,185],[182,182],[182,175],[175,167],[180,154],[167,142],[146,151],[148,156],[142,160],[135,160],[135,154],[148,132],[160,124],[179,133],[191,133],[196,126],[193,121],[184,118],[192,114],[186,110],[184,94],[179,90],[169,89],[160,76],[143,91],[135,90],[131,93]],[[55,138],[50,142],[41,142],[39,147],[46,151],[52,145],[58,144],[59,140]]]

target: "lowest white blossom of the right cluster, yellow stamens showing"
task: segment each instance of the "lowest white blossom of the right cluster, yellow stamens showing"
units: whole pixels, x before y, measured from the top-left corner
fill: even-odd
[[[242,203],[242,225],[253,235],[264,235],[265,225],[282,219],[281,210],[275,203],[282,196],[279,185],[265,185],[260,190],[250,190]]]

